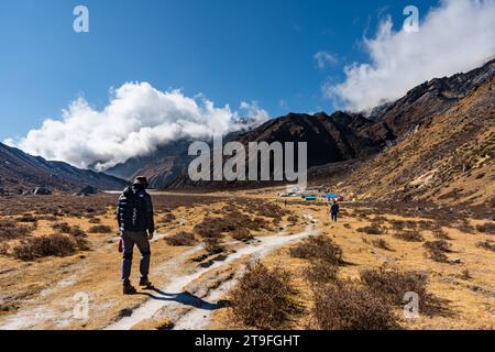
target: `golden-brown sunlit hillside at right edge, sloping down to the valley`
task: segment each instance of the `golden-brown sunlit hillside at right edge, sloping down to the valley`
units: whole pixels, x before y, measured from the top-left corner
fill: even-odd
[[[344,189],[360,198],[495,205],[495,78],[364,163]]]

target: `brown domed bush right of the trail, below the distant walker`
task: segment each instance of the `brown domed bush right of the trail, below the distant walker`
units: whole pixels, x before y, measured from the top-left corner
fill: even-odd
[[[290,256],[320,260],[333,265],[342,264],[342,249],[326,235],[310,237],[289,250]]]

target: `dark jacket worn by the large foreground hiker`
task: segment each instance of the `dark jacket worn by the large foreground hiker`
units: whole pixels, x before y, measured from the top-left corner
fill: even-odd
[[[153,204],[141,185],[127,187],[119,197],[117,221],[120,231],[155,232]]]

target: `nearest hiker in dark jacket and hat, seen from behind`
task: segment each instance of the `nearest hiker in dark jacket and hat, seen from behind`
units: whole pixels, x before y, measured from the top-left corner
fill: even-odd
[[[121,273],[124,295],[136,293],[130,280],[134,244],[141,253],[140,286],[146,289],[153,288],[148,279],[148,273],[151,261],[150,240],[153,239],[155,232],[155,222],[152,199],[146,193],[147,187],[146,177],[139,176],[133,185],[127,187],[119,197],[117,221],[119,222],[123,253]]]

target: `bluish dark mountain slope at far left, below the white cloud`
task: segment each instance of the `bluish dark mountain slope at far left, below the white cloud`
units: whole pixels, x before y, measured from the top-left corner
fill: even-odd
[[[0,188],[4,191],[18,193],[35,187],[75,191],[86,186],[118,190],[125,185],[123,179],[62,162],[48,162],[0,143]]]

